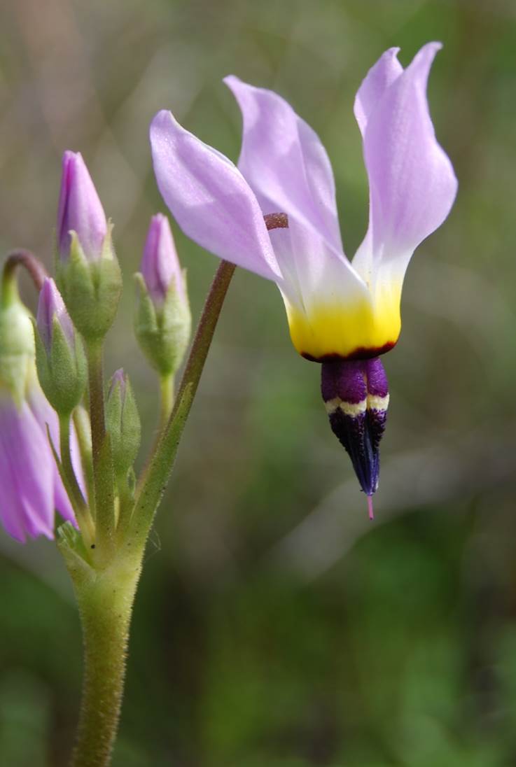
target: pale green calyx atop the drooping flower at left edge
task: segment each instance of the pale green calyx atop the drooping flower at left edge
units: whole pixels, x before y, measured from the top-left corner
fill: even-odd
[[[0,305],[0,390],[18,405],[25,399],[28,374],[34,364],[31,315],[18,298]]]

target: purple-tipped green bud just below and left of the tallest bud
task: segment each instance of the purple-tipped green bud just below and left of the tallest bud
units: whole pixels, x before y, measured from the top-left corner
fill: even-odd
[[[63,299],[51,278],[39,294],[35,328],[36,367],[48,402],[69,415],[81,401],[86,386],[86,360]]]

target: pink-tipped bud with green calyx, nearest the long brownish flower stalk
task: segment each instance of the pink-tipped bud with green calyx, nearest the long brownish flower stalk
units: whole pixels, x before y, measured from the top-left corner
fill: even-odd
[[[134,323],[137,340],[160,375],[174,374],[190,341],[190,305],[184,272],[166,216],[151,219],[141,272]]]

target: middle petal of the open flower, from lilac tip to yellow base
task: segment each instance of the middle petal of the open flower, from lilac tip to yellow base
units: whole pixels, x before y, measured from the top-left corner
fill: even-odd
[[[289,216],[288,229],[274,229],[270,239],[283,274],[293,344],[315,358],[348,349],[348,309],[353,316],[357,305],[370,311],[371,301],[342,253],[326,150],[283,98],[237,77],[225,82],[243,114],[240,170],[264,214]]]

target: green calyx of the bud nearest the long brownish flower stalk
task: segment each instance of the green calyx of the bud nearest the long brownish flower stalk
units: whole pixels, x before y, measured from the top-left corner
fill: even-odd
[[[144,276],[134,275],[140,295],[134,318],[134,333],[141,350],[161,376],[173,375],[184,360],[190,342],[190,304],[170,282],[163,305],[154,304]],[[186,276],[185,295],[186,295]]]

